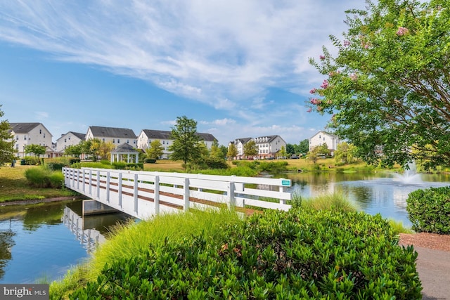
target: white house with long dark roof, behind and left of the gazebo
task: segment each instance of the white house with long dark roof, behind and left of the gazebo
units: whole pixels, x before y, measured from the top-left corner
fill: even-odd
[[[98,138],[105,143],[111,142],[115,147],[127,143],[128,145],[131,145],[131,147],[136,148],[137,137],[131,129],[89,126],[86,136],[84,136],[84,140],[89,141],[94,138]]]

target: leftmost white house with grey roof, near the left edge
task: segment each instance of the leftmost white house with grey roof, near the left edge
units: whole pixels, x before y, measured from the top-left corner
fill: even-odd
[[[53,137],[49,130],[41,123],[10,123],[10,133],[13,135],[15,141],[14,149],[17,157],[25,157],[25,146],[27,145],[41,145],[46,146],[46,153],[44,157],[54,157],[54,150],[52,149]]]

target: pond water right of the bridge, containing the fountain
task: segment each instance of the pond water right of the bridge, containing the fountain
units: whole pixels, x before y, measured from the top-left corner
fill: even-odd
[[[276,177],[291,179],[291,190],[302,197],[342,193],[359,210],[401,221],[404,226],[411,226],[406,211],[409,193],[450,185],[449,174],[305,172],[278,174]]]

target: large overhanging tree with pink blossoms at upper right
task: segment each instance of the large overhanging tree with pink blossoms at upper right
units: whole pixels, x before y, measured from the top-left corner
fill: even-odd
[[[450,164],[450,7],[447,0],[368,2],[347,11],[348,31],[330,36],[310,63],[326,76],[310,110],[371,164]],[[381,152],[381,155],[380,155]]]

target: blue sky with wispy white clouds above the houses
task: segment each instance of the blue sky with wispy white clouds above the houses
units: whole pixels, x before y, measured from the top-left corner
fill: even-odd
[[[307,112],[308,63],[364,0],[1,1],[0,105],[53,141],[89,126],[171,130],[198,122],[221,145],[297,144],[329,119]]]

